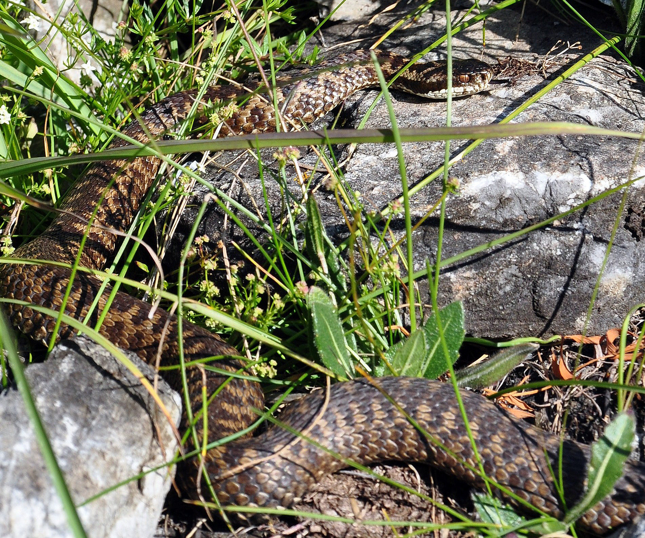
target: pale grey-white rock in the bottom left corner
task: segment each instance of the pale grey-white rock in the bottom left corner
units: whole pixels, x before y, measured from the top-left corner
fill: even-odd
[[[126,355],[153,378],[148,365]],[[174,474],[164,463],[177,450],[152,396],[112,354],[84,337],[64,341],[25,375],[88,537],[152,537]],[[176,426],[181,400],[161,379],[158,390]],[[0,534],[71,536],[15,389],[0,394],[0,424]]]

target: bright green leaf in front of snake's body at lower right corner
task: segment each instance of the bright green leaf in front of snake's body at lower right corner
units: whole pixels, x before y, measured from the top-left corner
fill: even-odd
[[[567,513],[568,523],[576,521],[611,493],[630,456],[634,431],[634,419],[626,413],[620,413],[605,428],[604,435],[591,445],[587,489],[582,500]]]

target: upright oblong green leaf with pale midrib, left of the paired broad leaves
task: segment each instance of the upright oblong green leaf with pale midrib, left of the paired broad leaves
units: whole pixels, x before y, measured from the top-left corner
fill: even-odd
[[[307,294],[307,306],[312,314],[313,343],[323,364],[337,376],[353,377],[353,363],[332,300],[322,289],[312,286]]]

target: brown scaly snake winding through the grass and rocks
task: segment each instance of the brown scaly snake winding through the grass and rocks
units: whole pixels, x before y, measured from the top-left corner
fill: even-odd
[[[377,52],[377,55],[386,79],[391,79],[407,63],[406,59],[392,53]],[[441,96],[443,64],[413,67],[408,74],[397,79],[397,87],[424,95],[428,95],[428,91],[439,91],[432,96]],[[467,95],[486,88],[491,78],[490,66],[477,61],[455,64],[458,72],[464,68],[470,68],[470,72],[455,75],[457,91],[466,88],[461,91]],[[421,77],[428,76],[430,72],[434,74],[424,86]],[[298,81],[273,90],[277,93],[288,128],[290,124],[312,122],[354,91],[378,84],[366,51],[341,55],[301,74]],[[139,120],[128,124],[123,129],[124,135],[144,143],[149,142],[150,136],[161,137],[186,119],[196,95],[196,90],[188,90],[166,97],[144,111]],[[243,91],[233,86],[211,86],[204,93],[203,101],[230,101],[239,99],[241,95]],[[272,131],[275,130],[275,122],[272,105],[262,95],[252,95],[248,101],[241,102],[239,110],[226,120],[221,135]],[[121,147],[126,143],[117,138],[110,147]],[[17,249],[14,257],[73,264],[81,238],[87,233],[80,265],[103,269],[117,242],[117,236],[106,231],[105,227],[125,231],[130,226],[160,164],[161,159],[152,156],[92,165],[77,180],[62,208],[86,221],[94,218],[94,223],[101,227],[92,226],[88,231],[83,221],[69,213],[61,214],[40,236]],[[54,331],[54,319],[28,303],[58,310],[69,277],[69,269],[55,265],[19,261],[3,264],[0,294],[10,300],[5,302],[5,310],[15,327],[36,340],[47,342]],[[90,274],[76,274],[72,293],[64,308],[66,314],[83,320],[101,282]],[[108,293],[109,290],[99,296],[98,307],[90,316],[88,325],[94,326],[97,322]],[[152,319],[148,319],[149,311],[148,303],[118,293],[99,332],[119,347],[130,349],[155,364],[160,335],[168,325],[161,345],[161,365],[174,365],[178,355],[177,322],[159,309]],[[58,338],[66,338],[72,333],[72,329],[63,324]],[[230,371],[243,370],[243,365],[232,358],[237,356],[235,349],[206,329],[188,322],[183,322],[183,346],[187,361],[224,356],[228,358],[218,361],[218,367]],[[216,438],[238,432],[257,419],[253,409],[264,407],[263,394],[257,383],[239,378],[223,383],[222,376],[213,372],[207,374],[209,396],[222,385],[221,392],[208,408],[209,430],[217,432]],[[202,407],[202,375],[202,370],[196,367],[188,368],[186,373],[194,413]],[[375,379],[375,384],[387,394],[392,394],[426,435],[413,427],[401,411],[368,381],[338,383],[330,389],[328,399],[321,392],[312,394],[280,415],[279,420],[292,430],[302,432],[302,437],[281,427],[270,427],[260,436],[210,450],[205,457],[205,468],[219,501],[226,505],[288,507],[314,481],[346,466],[342,458],[361,464],[388,459],[425,461],[470,485],[484,486],[478,472],[473,471],[479,467],[452,386],[410,378]],[[504,490],[491,486],[493,491],[510,503],[520,505],[523,510],[533,505],[544,514],[563,517],[565,506],[573,506],[584,490],[589,448],[572,441],[561,443],[559,437],[512,418],[481,396],[467,391],[461,394],[486,475]],[[199,419],[197,430],[201,424]],[[198,431],[198,437],[202,433]],[[564,504],[554,486],[551,471],[557,472],[559,468],[559,450],[562,450],[565,462],[562,469]],[[188,481],[192,480],[192,488],[196,489],[197,472],[193,469],[190,474],[192,479]],[[515,495],[516,499],[507,492]],[[613,494],[586,512],[578,524],[581,528],[602,534],[644,513],[645,466],[628,463]]]

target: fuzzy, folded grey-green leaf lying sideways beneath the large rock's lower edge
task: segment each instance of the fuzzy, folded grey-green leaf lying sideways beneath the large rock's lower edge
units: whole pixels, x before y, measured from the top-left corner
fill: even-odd
[[[487,361],[457,370],[455,372],[457,385],[459,387],[471,387],[471,389],[489,387],[493,383],[497,383],[523,360],[530,358],[533,351],[538,348],[539,345],[535,343],[522,343],[507,347]]]

